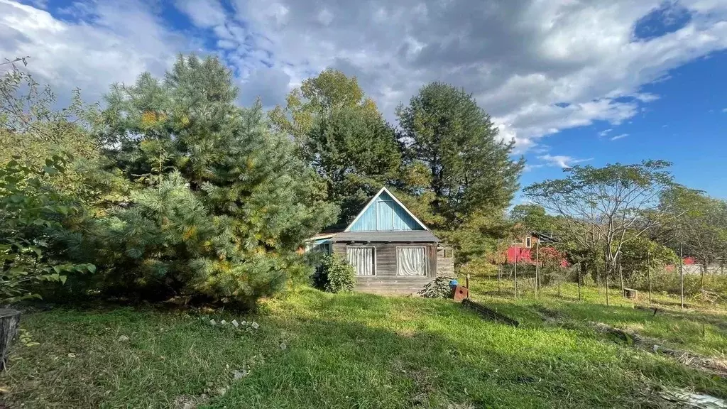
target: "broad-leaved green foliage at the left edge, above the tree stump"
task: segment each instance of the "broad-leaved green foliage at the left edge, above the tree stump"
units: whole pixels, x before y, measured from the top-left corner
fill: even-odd
[[[39,298],[34,287],[95,271],[93,264],[60,262],[50,251],[62,222],[76,212],[73,202],[47,182],[64,172],[68,160],[55,156],[42,167],[19,160],[0,168],[0,303]]]

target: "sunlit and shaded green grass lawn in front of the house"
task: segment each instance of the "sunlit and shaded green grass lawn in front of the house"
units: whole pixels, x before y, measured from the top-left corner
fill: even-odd
[[[473,296],[520,320],[489,322],[452,301],[302,289],[262,303],[257,330],[203,312],[108,307],[25,314],[39,346],[16,346],[0,375],[9,408],[659,408],[651,391],[727,397],[727,381],[635,349],[587,324],[606,322],[713,357],[727,332],[695,317],[627,305]],[[494,284],[496,285],[496,284]],[[571,289],[568,289],[569,293]],[[570,297],[570,295],[566,295]],[[542,311],[558,314],[544,322]],[[568,325],[563,325],[563,323]],[[716,322],[716,321],[715,321]],[[677,330],[675,330],[677,328]],[[697,334],[696,332],[699,332]],[[129,341],[120,341],[126,335]],[[233,379],[234,370],[249,370]],[[220,394],[218,389],[225,388]],[[0,408],[2,405],[0,405]]]

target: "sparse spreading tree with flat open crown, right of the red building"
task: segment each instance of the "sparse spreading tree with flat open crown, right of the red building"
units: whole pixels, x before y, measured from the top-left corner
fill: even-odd
[[[576,166],[566,178],[533,183],[523,191],[557,217],[559,241],[577,260],[592,266],[603,255],[615,271],[622,247],[664,222],[659,197],[675,186],[670,162]]]

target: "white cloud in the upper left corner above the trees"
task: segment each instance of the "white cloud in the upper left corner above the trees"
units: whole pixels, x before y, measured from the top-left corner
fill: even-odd
[[[143,71],[156,75],[175,54],[193,44],[164,25],[137,1],[97,3],[67,10],[76,23],[14,1],[0,0],[0,57],[30,55],[28,70],[54,86],[60,99],[81,88],[98,100],[113,82],[134,82]]]

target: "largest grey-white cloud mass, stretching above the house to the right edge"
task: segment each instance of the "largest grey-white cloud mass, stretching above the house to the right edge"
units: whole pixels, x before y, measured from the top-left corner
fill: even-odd
[[[393,119],[422,84],[451,82],[473,92],[519,151],[564,129],[625,122],[659,98],[644,84],[727,48],[719,1],[683,2],[691,20],[648,40],[635,39],[634,26],[661,0],[238,3],[238,18],[269,40],[260,47],[284,64],[291,86],[341,68]],[[336,17],[322,21],[329,13]]]

